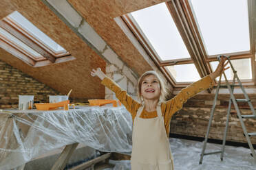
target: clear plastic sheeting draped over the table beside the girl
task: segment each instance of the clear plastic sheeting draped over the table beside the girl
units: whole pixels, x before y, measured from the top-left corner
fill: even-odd
[[[12,169],[72,143],[130,153],[132,119],[124,106],[0,113],[0,169]]]

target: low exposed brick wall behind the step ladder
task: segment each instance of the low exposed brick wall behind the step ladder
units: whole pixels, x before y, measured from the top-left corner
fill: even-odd
[[[241,109],[242,114],[251,114],[248,109]],[[175,113],[171,120],[170,132],[189,136],[204,137],[209,123],[211,108],[184,107]],[[209,138],[222,140],[226,123],[227,108],[215,108]],[[256,132],[256,119],[245,119],[244,123],[248,132]],[[256,138],[250,138],[256,144]],[[227,141],[247,143],[243,135],[242,125],[237,119],[234,109],[229,117]]]

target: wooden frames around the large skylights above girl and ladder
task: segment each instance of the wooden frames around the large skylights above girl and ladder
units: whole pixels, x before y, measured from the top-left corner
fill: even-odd
[[[250,32],[250,51],[248,52],[238,52],[238,53],[225,53],[224,55],[230,56],[231,60],[233,59],[242,59],[242,58],[250,58],[251,60],[251,70],[253,78],[252,80],[241,80],[241,82],[245,86],[255,86],[255,45],[253,41],[253,9],[252,9],[252,0],[248,1],[248,17],[249,17],[249,32]],[[183,59],[175,59],[175,60],[164,60],[162,61],[156,51],[154,51],[153,47],[147,40],[145,34],[143,34],[140,27],[138,27],[136,21],[133,19],[131,14],[125,14],[121,16],[122,20],[127,24],[131,32],[136,36],[139,40],[140,44],[147,51],[153,62],[155,62],[160,70],[167,75],[167,80],[171,83],[171,85],[176,89],[183,88],[191,84],[191,82],[176,82],[172,75],[164,68],[164,66],[172,66],[178,64],[195,64],[200,77],[204,77],[212,73],[211,69],[211,61],[217,61],[217,55],[209,56],[206,53],[204,43],[202,40],[202,36],[198,29],[198,25],[195,22],[195,16],[193,16],[193,12],[191,9],[191,5],[189,0],[171,0],[166,2],[167,8],[171,16],[173,17],[173,21],[175,22],[180,35],[182,36],[182,40],[186,45],[186,48],[189,51],[191,58],[183,58]],[[211,92],[211,90],[209,90]]]

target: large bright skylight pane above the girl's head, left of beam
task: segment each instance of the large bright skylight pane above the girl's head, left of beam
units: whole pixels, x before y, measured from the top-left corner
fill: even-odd
[[[161,60],[190,58],[165,3],[131,12]]]

